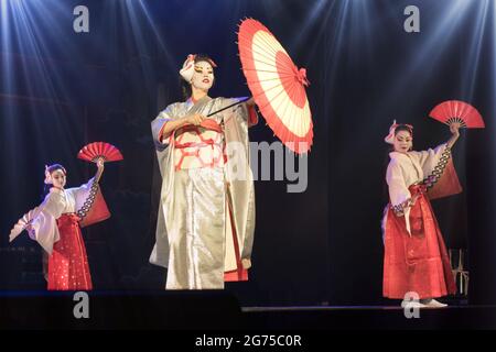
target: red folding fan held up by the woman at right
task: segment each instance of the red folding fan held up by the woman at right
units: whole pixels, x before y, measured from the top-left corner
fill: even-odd
[[[477,109],[461,100],[443,101],[435,106],[429,116],[448,125],[457,122],[460,127],[466,129],[485,128],[484,120]]]

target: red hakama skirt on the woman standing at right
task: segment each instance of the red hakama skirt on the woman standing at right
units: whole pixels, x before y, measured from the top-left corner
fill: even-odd
[[[410,209],[410,231],[405,217],[397,217],[388,207],[385,224],[385,257],[382,294],[403,299],[409,292],[419,299],[456,293],[446,248],[432,211],[431,202],[420,185],[409,188],[419,194]]]

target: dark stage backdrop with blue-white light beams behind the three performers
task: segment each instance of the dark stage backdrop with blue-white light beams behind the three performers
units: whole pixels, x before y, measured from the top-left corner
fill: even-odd
[[[72,29],[78,4],[89,9],[89,33]],[[421,11],[420,33],[403,31],[410,4]],[[446,245],[468,250],[471,301],[494,302],[494,7],[456,0],[2,7],[0,288],[45,287],[39,245],[25,234],[10,245],[8,233],[40,202],[44,164],[62,163],[68,186],[79,185],[95,169],[76,154],[100,140],[117,145],[125,161],[108,164],[103,177],[112,217],[84,230],[95,288],[164,286],[165,271],[148,263],[160,180],[150,121],[181,99],[177,70],[190,53],[208,53],[218,64],[211,96],[249,95],[235,32],[252,16],[306,67],[315,136],[305,193],[288,194],[288,182],[256,182],[250,280],[226,289],[247,306],[385,302],[382,139],[397,119],[414,124],[416,148],[446,141],[448,128],[428,113],[461,99],[477,107],[486,129],[462,131],[454,158],[464,193],[434,208]],[[274,141],[263,123],[250,135]]]

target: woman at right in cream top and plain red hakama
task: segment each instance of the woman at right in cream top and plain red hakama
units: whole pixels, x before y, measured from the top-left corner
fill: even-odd
[[[459,125],[451,124],[452,138],[434,150],[412,151],[413,128],[396,124],[385,139],[393,145],[386,173],[389,205],[382,220],[385,260],[382,294],[405,299],[417,294],[420,307],[444,307],[434,298],[456,292],[450,260],[429,199],[461,191],[451,161],[451,147],[459,139]],[[435,187],[433,187],[435,185]],[[432,187],[432,188],[431,188]]]

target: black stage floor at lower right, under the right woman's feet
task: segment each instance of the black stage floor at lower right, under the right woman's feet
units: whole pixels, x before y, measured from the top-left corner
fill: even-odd
[[[418,318],[400,306],[244,307],[247,328],[302,330],[496,329],[496,306],[421,308]],[[407,318],[410,316],[410,318]]]

